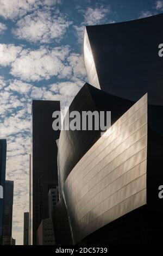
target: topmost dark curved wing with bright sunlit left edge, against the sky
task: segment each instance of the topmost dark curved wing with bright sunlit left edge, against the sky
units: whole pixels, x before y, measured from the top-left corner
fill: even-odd
[[[97,87],[98,80],[105,92],[133,101],[148,93],[149,104],[163,105],[163,60],[158,55],[159,44],[163,41],[162,22],[163,14],[160,14],[128,22],[87,26],[84,58],[92,86]],[[93,69],[87,65],[90,59]]]

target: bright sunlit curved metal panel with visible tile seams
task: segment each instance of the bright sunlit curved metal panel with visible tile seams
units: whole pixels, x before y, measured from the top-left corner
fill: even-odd
[[[73,242],[146,204],[147,94],[68,175],[63,195]]]

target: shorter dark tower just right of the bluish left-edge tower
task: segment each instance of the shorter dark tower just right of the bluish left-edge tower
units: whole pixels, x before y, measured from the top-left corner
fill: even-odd
[[[4,188],[3,245],[11,245],[13,198],[14,181],[6,180]]]

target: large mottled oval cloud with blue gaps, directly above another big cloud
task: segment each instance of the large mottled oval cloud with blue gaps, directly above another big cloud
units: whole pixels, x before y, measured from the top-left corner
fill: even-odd
[[[37,10],[29,14],[16,23],[16,29],[13,33],[19,39],[25,39],[30,42],[49,43],[52,40],[60,41],[67,28],[72,24],[67,21],[59,10],[55,10],[52,15],[51,11]]]

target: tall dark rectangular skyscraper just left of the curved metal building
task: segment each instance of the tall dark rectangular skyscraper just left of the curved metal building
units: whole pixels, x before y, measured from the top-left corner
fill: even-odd
[[[57,143],[60,131],[52,129],[54,111],[60,111],[59,101],[34,100],[32,104],[32,155],[30,239],[36,245],[37,228],[48,218],[48,191],[58,184]]]

